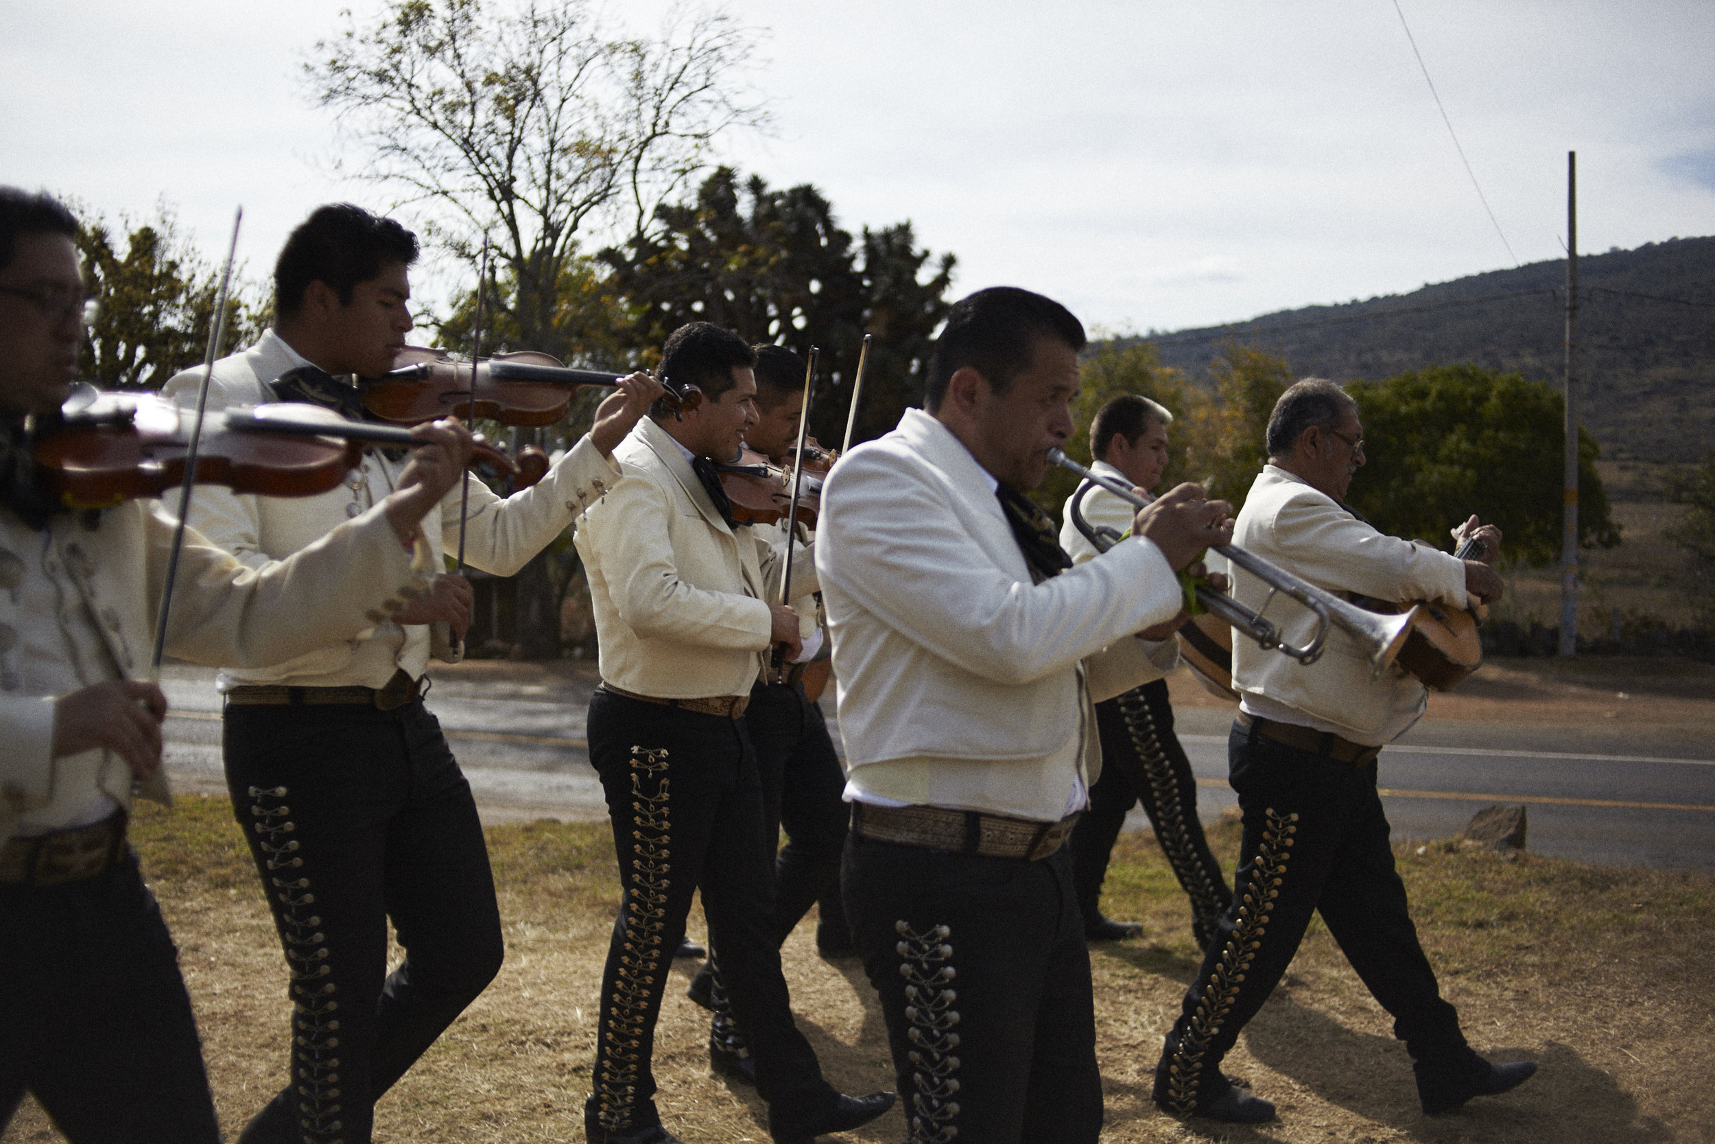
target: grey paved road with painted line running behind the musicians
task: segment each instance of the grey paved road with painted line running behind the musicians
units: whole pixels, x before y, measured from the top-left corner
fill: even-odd
[[[170,667],[166,762],[178,789],[223,791],[220,696],[213,674]],[[489,822],[605,816],[588,765],[588,684],[441,681],[441,719]],[[832,719],[832,701],[827,703]],[[1204,820],[1233,804],[1226,787],[1231,713],[1183,708],[1180,739],[1199,780]],[[835,732],[835,743],[837,743]],[[1715,871],[1715,750],[1672,734],[1621,736],[1439,722],[1382,751],[1381,784],[1394,837],[1458,834],[1490,803],[1525,803],[1538,854],[1621,866]],[[1147,828],[1137,811],[1132,827]]]

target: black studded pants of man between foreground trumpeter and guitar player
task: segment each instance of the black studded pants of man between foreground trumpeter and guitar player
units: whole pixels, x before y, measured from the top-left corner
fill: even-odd
[[[1096,724],[1101,732],[1101,779],[1091,787],[1089,810],[1079,818],[1070,840],[1072,878],[1084,921],[1101,918],[1108,852],[1120,837],[1127,811],[1142,803],[1161,852],[1190,899],[1190,930],[1197,948],[1207,948],[1233,892],[1226,888],[1221,864],[1209,851],[1197,818],[1197,779],[1173,734],[1166,679],[1098,703]]]

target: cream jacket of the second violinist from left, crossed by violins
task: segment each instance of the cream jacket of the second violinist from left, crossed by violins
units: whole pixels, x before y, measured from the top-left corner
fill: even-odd
[[[274,334],[268,334],[244,353],[214,364],[209,408],[228,405],[262,405],[274,400],[268,388],[274,377],[293,367],[292,357]],[[196,405],[201,369],[189,369],[166,382],[163,393],[180,405]],[[312,497],[238,496],[218,485],[197,485],[190,508],[190,525],[216,545],[252,568],[292,556],[338,528],[353,513],[382,501],[398,482],[405,461],[388,460],[369,449],[360,468],[346,475],[338,489]],[[602,492],[619,479],[619,468],[600,455],[585,434],[566,456],[532,489],[501,499],[482,480],[466,477],[470,513],[465,533],[465,563],[497,576],[511,576],[532,556],[552,544]],[[458,551],[460,489],[454,485],[441,501],[439,527],[430,513],[424,533],[434,566],[444,568],[442,556]],[[331,640],[278,664],[240,667],[223,664],[221,683],[286,683],[293,686],[365,686],[381,688],[403,669],[413,679],[429,665],[430,626],[400,626],[391,619],[346,638]]]

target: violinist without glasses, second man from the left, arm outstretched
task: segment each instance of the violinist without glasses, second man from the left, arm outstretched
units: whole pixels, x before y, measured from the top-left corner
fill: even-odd
[[[350,204],[317,208],[274,266],[274,328],[216,362],[209,408],[298,400],[362,417],[346,377],[391,369],[412,329],[415,259],[417,238],[396,221]],[[199,381],[187,370],[166,393],[194,403]],[[551,544],[619,479],[609,455],[659,393],[645,374],[624,379],[592,432],[532,489],[501,499],[466,475],[468,561],[506,576]],[[199,489],[190,521],[242,563],[271,568],[398,480],[400,461],[369,449],[343,487],[321,496]],[[461,501],[454,485],[429,530],[436,566],[458,542]],[[250,1120],[245,1144],[369,1141],[376,1099],[499,971],[482,825],[422,703],[430,624],[461,640],[470,607],[470,585],[442,573],[352,638],[293,659],[223,664],[226,784],[274,911],[293,1002],[290,1081]],[[393,974],[389,919],[405,947]]]

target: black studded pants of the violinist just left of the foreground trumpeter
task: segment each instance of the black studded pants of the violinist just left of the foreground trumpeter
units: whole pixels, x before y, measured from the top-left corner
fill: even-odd
[[[650,1069],[667,966],[701,888],[732,1009],[751,1038],[756,1089],[777,1139],[835,1106],[792,1007],[773,936],[773,842],[763,832],[756,753],[743,720],[597,689],[590,762],[619,858],[619,918],[602,972],[595,1091],[585,1127],[635,1135],[660,1123]]]

